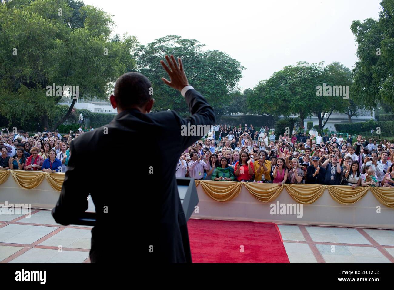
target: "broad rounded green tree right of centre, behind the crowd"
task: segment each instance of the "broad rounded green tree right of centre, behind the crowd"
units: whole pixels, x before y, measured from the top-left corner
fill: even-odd
[[[248,99],[249,106],[260,108],[261,113],[270,114],[275,119],[280,115],[288,117],[299,114],[304,119],[316,114],[319,127],[323,129],[334,111],[344,111],[348,101],[342,97],[317,97],[317,86],[349,84],[349,69],[333,63],[324,67],[324,63],[308,64],[298,62],[275,72],[268,80],[260,81]],[[324,121],[325,114],[329,113]]]

